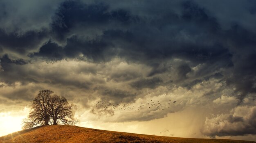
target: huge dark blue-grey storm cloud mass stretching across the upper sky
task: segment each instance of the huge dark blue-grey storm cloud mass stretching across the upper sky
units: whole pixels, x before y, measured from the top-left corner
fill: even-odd
[[[189,61],[177,67],[181,82],[192,82],[187,74],[193,73],[192,67],[203,64],[203,68],[195,72],[190,85],[224,68],[234,73],[230,77],[223,75],[226,81],[231,81],[229,85],[235,85],[238,91],[243,91],[241,101],[248,93],[255,93],[255,80],[252,78],[255,74],[250,72],[254,71],[256,61],[256,52],[252,49],[255,33],[239,24],[227,30],[222,29],[214,13],[195,1],[166,4],[171,6],[174,3],[177,6],[175,8],[158,3],[159,7],[155,8],[157,13],[153,14],[149,11],[149,8],[152,9],[150,4],[136,13],[137,10],[132,9],[132,6],[117,8],[111,2],[67,0],[60,3],[55,13],[52,13],[48,30],[30,30],[20,34],[7,34],[1,30],[0,44],[3,50],[25,53],[29,49],[35,51],[38,43],[48,38],[51,40],[28,56],[42,57],[47,61],[78,58],[96,63],[121,57],[128,62],[151,66],[153,69],[148,76],[170,71],[171,67],[163,63],[179,58]],[[247,50],[242,52],[239,47]],[[248,57],[241,61],[235,60],[241,53]],[[250,80],[238,82],[241,81],[239,77]]]

